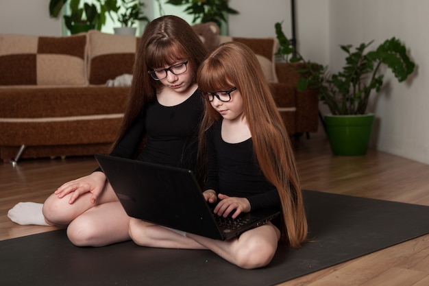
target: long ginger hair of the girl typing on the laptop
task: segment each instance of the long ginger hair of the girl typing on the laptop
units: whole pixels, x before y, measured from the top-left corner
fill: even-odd
[[[282,202],[281,239],[299,248],[307,236],[307,221],[295,156],[256,56],[241,43],[219,45],[201,64],[197,78],[202,92],[232,86],[240,91],[256,159],[265,178],[277,188]],[[206,148],[206,130],[219,120],[221,115],[206,102],[200,132],[201,154]]]

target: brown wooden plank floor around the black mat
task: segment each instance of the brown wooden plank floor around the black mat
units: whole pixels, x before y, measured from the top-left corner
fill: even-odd
[[[375,150],[332,156],[322,131],[300,139],[296,158],[304,189],[429,206],[429,165]],[[0,240],[56,229],[18,226],[6,214],[17,202],[43,202],[60,184],[96,166],[93,158],[22,160],[16,167],[0,163]],[[429,235],[281,284],[291,285],[427,286]]]

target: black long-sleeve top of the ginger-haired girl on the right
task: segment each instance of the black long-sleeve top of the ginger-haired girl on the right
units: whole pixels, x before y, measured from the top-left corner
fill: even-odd
[[[221,122],[206,133],[208,142],[208,180],[204,189],[230,197],[247,198],[252,210],[280,209],[277,189],[267,181],[253,151],[252,138],[227,143],[221,136]]]

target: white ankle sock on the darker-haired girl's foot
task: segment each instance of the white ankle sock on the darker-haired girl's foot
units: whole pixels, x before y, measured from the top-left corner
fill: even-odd
[[[8,211],[8,217],[16,224],[49,226],[43,216],[42,208],[43,204],[36,202],[19,202]]]

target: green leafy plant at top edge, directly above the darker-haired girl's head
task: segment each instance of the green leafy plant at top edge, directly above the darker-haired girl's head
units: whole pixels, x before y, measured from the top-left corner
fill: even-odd
[[[238,11],[228,6],[228,0],[168,0],[171,5],[186,5],[184,12],[193,15],[193,23],[215,22],[221,31],[225,31],[228,21],[226,14],[238,14]],[[225,25],[222,25],[222,24]],[[228,34],[228,33],[227,33]]]

